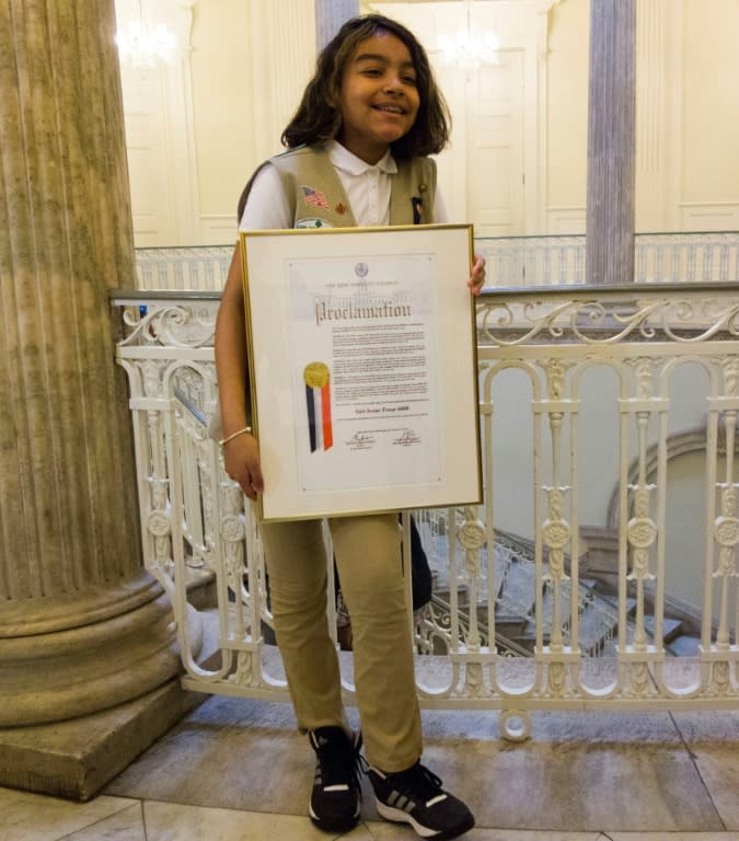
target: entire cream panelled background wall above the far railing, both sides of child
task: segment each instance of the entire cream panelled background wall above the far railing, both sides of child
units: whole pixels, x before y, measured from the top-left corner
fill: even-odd
[[[138,13],[138,0],[116,5],[122,21]],[[124,68],[136,242],[230,242],[241,187],[279,149],[312,73],[313,0],[148,0],[145,8],[176,30],[181,50],[171,68]],[[472,168],[475,143],[498,147],[484,133],[503,125],[500,115],[476,108],[501,71],[460,74],[439,62],[438,34],[464,22],[462,0],[365,0],[370,8],[409,23],[439,67],[455,120],[440,160],[453,218],[489,233],[582,232],[589,0],[472,4],[475,25],[495,28],[507,56],[521,57],[523,96],[507,105],[511,148],[498,155],[510,176],[501,187],[513,208],[508,228],[496,228],[495,212],[482,218],[467,188],[489,175]],[[637,0],[637,230],[739,229],[737,32],[737,0]]]

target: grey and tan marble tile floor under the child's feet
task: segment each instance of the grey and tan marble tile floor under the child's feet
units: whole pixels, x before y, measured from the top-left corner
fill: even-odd
[[[739,841],[739,712],[425,711],[426,763],[465,841]],[[209,698],[86,804],[0,788],[0,841],[328,841],[304,817],[313,760],[287,704]],[[413,841],[368,790],[354,841]]]

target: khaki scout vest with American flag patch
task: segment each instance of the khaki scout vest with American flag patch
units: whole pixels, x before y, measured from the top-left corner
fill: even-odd
[[[269,161],[279,173],[296,228],[356,228],[357,222],[328,153],[301,147]],[[399,161],[391,175],[390,223],[434,221],[436,162],[430,158]]]

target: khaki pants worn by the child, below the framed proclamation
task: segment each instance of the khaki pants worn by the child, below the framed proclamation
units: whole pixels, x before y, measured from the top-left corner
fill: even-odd
[[[328,521],[351,617],[355,686],[370,764],[403,771],[422,752],[413,647],[393,514]],[[298,726],[345,726],[336,647],[326,621],[321,521],[262,525],[275,632]]]

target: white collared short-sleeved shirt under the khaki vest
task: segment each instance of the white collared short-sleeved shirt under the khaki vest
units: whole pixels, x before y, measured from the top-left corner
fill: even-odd
[[[357,158],[336,140],[326,143],[326,151],[357,224],[361,228],[390,224],[391,175],[397,172],[390,150],[374,165]],[[447,208],[438,187],[434,196],[434,219],[447,221]],[[239,228],[242,231],[292,228],[287,196],[273,164],[267,164],[254,180]]]

